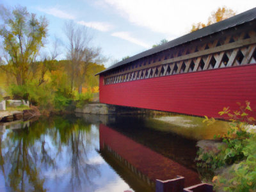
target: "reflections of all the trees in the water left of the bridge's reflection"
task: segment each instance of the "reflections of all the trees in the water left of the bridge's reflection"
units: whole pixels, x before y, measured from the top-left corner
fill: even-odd
[[[0,135],[0,166],[6,185],[10,191],[46,191],[47,177],[42,175],[47,170],[58,172],[58,159],[65,152],[65,166],[71,170],[64,177],[70,177],[72,191],[81,184],[92,185],[93,177],[100,174],[88,159],[93,139],[90,124],[67,118],[41,119],[26,129],[7,132],[4,138]]]

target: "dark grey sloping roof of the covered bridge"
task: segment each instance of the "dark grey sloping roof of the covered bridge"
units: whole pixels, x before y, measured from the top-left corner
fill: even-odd
[[[240,13],[239,15],[235,15],[234,17],[230,17],[226,20],[222,20],[221,22],[217,22],[215,24],[212,24],[210,26],[207,26],[205,28],[199,29],[197,31],[194,31],[192,33],[189,33],[188,35],[180,36],[179,38],[176,38],[174,40],[171,40],[170,42],[167,42],[166,44],[159,45],[157,47],[154,47],[152,49],[148,49],[147,51],[140,52],[139,54],[136,54],[134,56],[131,56],[130,58],[127,58],[126,60],[120,61],[116,63],[115,65],[112,65],[109,68],[106,68],[106,70],[102,70],[102,72],[99,72],[96,75],[102,74],[104,72],[107,72],[113,68],[121,67],[122,65],[125,65],[127,63],[131,63],[132,61],[139,60],[141,58],[144,58],[146,56],[150,56],[152,54],[156,54],[157,52],[164,51],[166,49],[170,49],[172,47],[176,47],[178,45],[182,45],[188,42],[191,42],[193,40],[196,40],[198,38],[202,38],[204,36],[212,35],[214,33],[218,33],[220,31],[223,31],[225,29],[234,28],[236,26],[239,26],[241,24],[244,24],[246,22],[250,22],[252,20],[256,19],[256,8],[253,8],[251,10],[248,10],[246,12]]]

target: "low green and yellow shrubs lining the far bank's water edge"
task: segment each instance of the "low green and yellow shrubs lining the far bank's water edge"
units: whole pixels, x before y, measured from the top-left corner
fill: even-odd
[[[68,88],[52,88],[52,84],[28,83],[22,86],[12,84],[10,93],[13,99],[29,100],[33,106],[38,106],[43,114],[48,111],[70,111],[74,109],[73,101],[76,107],[81,108],[93,98],[91,89],[85,93],[72,92]]]

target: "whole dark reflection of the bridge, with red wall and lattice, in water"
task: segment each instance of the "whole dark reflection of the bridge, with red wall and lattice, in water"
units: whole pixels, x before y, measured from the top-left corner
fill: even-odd
[[[128,119],[127,119],[128,120]],[[200,183],[195,169],[195,141],[166,134],[136,122],[100,124],[100,154],[135,191],[154,191],[156,179],[185,177],[185,187]],[[135,125],[135,126],[134,126]],[[125,129],[129,127],[129,129]]]

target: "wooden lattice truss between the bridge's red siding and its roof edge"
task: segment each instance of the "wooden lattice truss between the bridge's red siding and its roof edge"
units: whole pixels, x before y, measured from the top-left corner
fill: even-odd
[[[104,84],[123,83],[214,68],[256,63],[256,28],[232,29],[141,58],[104,76]]]

